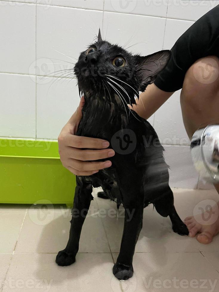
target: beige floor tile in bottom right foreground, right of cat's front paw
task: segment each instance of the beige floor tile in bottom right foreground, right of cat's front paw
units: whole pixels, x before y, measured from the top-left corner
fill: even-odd
[[[117,256],[113,254],[114,261]],[[219,289],[218,272],[199,252],[136,253],[133,268],[133,277],[121,282],[124,291],[217,292]]]

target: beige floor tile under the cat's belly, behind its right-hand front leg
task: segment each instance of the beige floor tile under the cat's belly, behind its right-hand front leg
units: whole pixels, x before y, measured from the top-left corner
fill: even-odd
[[[112,252],[119,252],[124,225],[123,208],[119,209],[119,217],[107,216],[102,219]],[[181,236],[172,230],[169,218],[163,218],[153,206],[144,209],[143,228],[140,232],[135,251],[156,252],[164,251],[196,251],[200,244],[194,238]]]

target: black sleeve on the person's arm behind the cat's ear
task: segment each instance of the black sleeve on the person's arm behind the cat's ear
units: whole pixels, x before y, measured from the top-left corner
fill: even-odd
[[[196,60],[210,55],[219,57],[219,5],[189,27],[171,52],[168,64],[154,82],[167,92],[182,88],[186,71]]]

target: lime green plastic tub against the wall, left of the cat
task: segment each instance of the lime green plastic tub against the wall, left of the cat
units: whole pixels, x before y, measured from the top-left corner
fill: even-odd
[[[75,175],[65,169],[58,143],[0,139],[0,203],[72,206]]]

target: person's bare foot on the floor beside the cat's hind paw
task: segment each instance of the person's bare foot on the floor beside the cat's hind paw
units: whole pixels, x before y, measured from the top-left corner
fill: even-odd
[[[195,237],[199,233],[197,236],[199,242],[211,243],[213,236],[219,232],[219,202],[213,207],[206,206],[206,211],[201,214],[186,217],[184,223],[189,229],[190,237]]]

